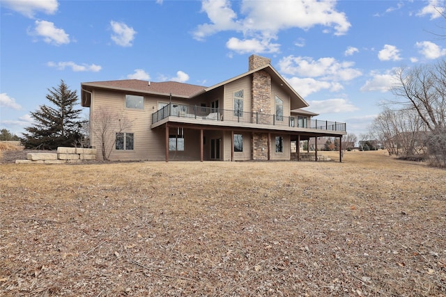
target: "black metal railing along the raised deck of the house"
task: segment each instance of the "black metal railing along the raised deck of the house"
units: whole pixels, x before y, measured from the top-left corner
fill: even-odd
[[[152,124],[169,116],[192,118],[199,120],[217,120],[223,122],[244,122],[259,125],[273,125],[321,129],[330,131],[346,131],[346,123],[330,122],[326,120],[308,120],[301,117],[287,117],[284,115],[269,115],[266,113],[249,113],[246,111],[231,111],[211,107],[183,104],[167,104],[162,109],[152,113]]]

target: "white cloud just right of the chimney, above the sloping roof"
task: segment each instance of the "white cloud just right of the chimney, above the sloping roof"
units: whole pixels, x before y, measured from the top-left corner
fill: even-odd
[[[300,77],[320,77],[325,81],[350,81],[362,75],[353,65],[353,62],[339,62],[334,58],[320,58],[316,61],[309,57],[286,56],[279,61],[279,72]]]

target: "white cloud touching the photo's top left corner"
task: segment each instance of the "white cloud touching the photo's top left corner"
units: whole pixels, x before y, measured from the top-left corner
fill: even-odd
[[[39,11],[52,15],[59,6],[56,0],[2,0],[1,3],[29,18],[33,18]]]

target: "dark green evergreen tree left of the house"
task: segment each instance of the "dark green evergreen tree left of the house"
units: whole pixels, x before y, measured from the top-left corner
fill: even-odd
[[[79,119],[81,109],[75,109],[77,93],[61,80],[57,88],[48,89],[47,99],[52,106],[42,105],[40,110],[31,112],[35,124],[25,128],[24,146],[41,150],[56,150],[60,146],[77,145],[82,134],[83,121]]]

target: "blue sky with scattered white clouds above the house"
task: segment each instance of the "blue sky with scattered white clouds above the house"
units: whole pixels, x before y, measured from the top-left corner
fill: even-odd
[[[357,136],[397,67],[446,55],[444,1],[1,0],[0,128],[21,136],[63,79],[213,86],[258,54],[320,120]],[[79,106],[80,107],[80,106]],[[85,117],[88,109],[84,109]]]

